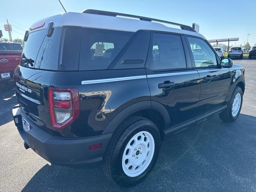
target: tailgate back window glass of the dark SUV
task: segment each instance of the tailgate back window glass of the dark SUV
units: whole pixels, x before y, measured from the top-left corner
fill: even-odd
[[[56,27],[52,36],[46,29],[30,32],[25,43],[21,66],[44,70],[58,70],[58,56],[62,28]]]

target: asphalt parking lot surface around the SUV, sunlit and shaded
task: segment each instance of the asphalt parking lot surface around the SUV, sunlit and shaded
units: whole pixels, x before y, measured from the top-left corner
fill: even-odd
[[[111,184],[100,167],[51,165],[25,150],[12,120],[14,90],[0,91],[0,191],[256,191],[256,59],[233,62],[246,69],[238,119],[216,116],[164,141],[152,172],[132,188]]]

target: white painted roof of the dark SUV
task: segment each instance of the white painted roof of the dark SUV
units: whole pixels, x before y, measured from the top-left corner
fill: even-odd
[[[87,14],[87,13],[76,13],[76,12],[68,12],[64,14],[50,16],[48,18],[39,20],[38,22],[34,23],[32,26],[45,22],[45,25],[43,28],[47,28],[48,23],[50,21],[54,22],[54,25],[53,25],[54,27],[82,26],[82,27],[88,27],[88,28],[102,28],[102,29],[122,30],[122,31],[130,31],[130,32],[136,32],[138,30],[156,30],[156,31],[188,34],[188,35],[194,35],[194,36],[204,38],[204,36],[202,36],[197,32],[171,28],[157,22],[148,22],[148,21],[137,20],[132,18],[122,18],[122,17]],[[42,28],[39,28],[39,29],[42,29]]]

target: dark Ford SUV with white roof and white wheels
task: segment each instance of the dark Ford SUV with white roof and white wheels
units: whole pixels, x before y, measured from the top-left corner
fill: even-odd
[[[25,148],[52,164],[102,161],[110,180],[131,186],[162,140],[241,110],[244,68],[190,26],[85,10],[40,20],[24,40],[14,122]]]

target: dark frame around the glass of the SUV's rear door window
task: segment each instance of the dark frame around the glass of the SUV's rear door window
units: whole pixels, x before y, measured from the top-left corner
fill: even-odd
[[[151,59],[152,59],[152,56],[153,56],[152,55],[152,48],[153,48],[153,43],[154,43],[154,34],[156,34],[156,33],[180,36],[180,40],[181,40],[183,51],[184,51],[185,62],[186,62],[186,67],[185,68],[170,68],[170,69],[156,69],[156,70],[153,70],[153,69],[150,68],[150,62],[151,62]],[[151,30],[150,42],[149,42],[149,45],[148,45],[148,55],[147,55],[147,58],[146,58],[145,69],[150,70],[152,72],[165,72],[165,71],[178,71],[178,70],[191,70],[191,69],[193,69],[191,63],[189,63],[191,65],[191,67],[190,67],[190,65],[188,67],[188,62],[189,61],[187,59],[189,57],[189,53],[188,53],[188,50],[185,48],[186,47],[186,42],[184,42],[184,39],[182,39],[182,36],[184,37],[184,34]]]

